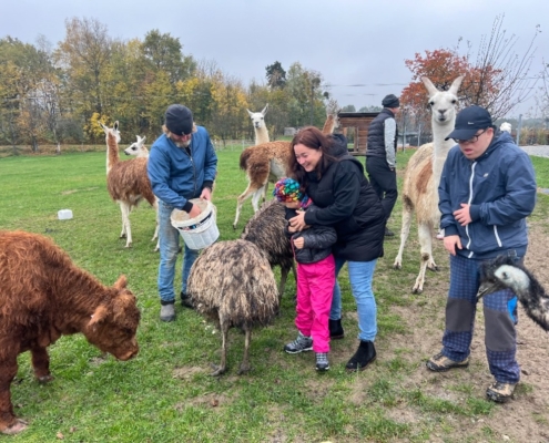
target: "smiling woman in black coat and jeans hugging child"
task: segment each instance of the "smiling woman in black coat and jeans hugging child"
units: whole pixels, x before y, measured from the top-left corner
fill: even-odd
[[[306,225],[333,226],[337,243],[333,248],[336,275],[347,262],[353,296],[358,312],[358,350],[347,362],[348,371],[362,371],[376,358],[377,308],[372,280],[377,258],[383,256],[385,213],[379,197],[364,176],[360,162],[348,154],[343,135],[326,136],[308,126],[292,141],[289,159],[293,178],[318,207],[314,213],[299,213],[289,220],[301,230]],[[343,338],[342,297],[334,289],[329,315],[331,337]]]

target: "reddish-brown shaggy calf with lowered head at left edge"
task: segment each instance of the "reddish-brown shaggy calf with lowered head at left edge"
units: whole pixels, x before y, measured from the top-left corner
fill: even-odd
[[[124,276],[103,286],[50,239],[0,231],[0,432],[17,434],[27,427],[10,399],[20,353],[31,352],[42,383],[52,380],[47,347],[63,334],[82,332],[101,351],[129,360],[139,351],[139,320]]]

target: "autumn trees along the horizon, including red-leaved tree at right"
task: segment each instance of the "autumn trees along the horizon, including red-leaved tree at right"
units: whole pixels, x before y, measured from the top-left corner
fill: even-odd
[[[498,16],[476,61],[470,43],[465,55],[456,47],[406,60],[411,81],[400,97],[405,111],[400,124],[428,131],[423,75],[447,89],[465,73],[462,104],[486,105],[496,117],[523,101],[531,91],[532,44],[517,56],[501,23]],[[276,140],[286,126],[322,126],[329,100],[322,73],[299,62],[286,71],[275,61],[265,68],[264,82],[244,85],[215,62],[185,54],[177,38],[159,30],[142,40],[121,41],[95,19],[71,18],[55,48],[44,37],[37,44],[9,35],[0,39],[0,145],[13,146],[16,153],[18,145],[39,151],[40,144],[102,142],[99,122],[119,121],[123,133],[154,140],[172,103],[187,105],[196,123],[221,142],[253,138],[246,109],[256,112],[268,103],[268,132]]]

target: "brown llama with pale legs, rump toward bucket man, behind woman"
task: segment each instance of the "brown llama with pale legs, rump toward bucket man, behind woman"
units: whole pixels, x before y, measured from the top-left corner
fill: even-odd
[[[324,123],[323,133],[332,134],[338,125],[338,106],[337,102],[331,101],[326,106],[326,122]],[[287,164],[289,156],[293,155],[291,142],[268,142],[255,146],[246,147],[240,158],[241,169],[246,172],[247,187],[238,196],[236,203],[236,215],[234,217],[233,228],[236,229],[242,205],[252,197],[254,213],[260,209],[260,199],[267,194],[268,183],[276,183],[287,174]]]

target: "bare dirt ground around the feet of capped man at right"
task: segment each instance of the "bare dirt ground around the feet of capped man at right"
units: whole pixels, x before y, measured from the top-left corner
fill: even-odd
[[[549,236],[542,225],[530,224],[530,245],[525,259],[527,268],[538,278],[545,288],[549,288],[548,256]],[[437,265],[448,274],[448,257],[441,241],[435,244]],[[406,307],[393,309],[407,322],[408,333],[403,340],[389,337],[378,346],[378,354],[388,361],[404,359],[409,364],[409,373],[403,380],[403,388],[420,388],[424,395],[446,400],[459,404],[465,398],[485,399],[486,388],[492,382],[486,360],[485,324],[481,305],[477,309],[475,334],[471,343],[470,365],[465,370],[453,370],[446,373],[433,373],[425,368],[425,361],[441,348],[444,317],[448,279],[438,278],[434,282],[433,275],[427,275],[425,292]],[[511,442],[549,442],[549,334],[531,321],[522,307],[519,307],[518,351],[517,359],[521,367],[521,380],[517,385],[515,399],[506,404],[497,404],[487,415],[474,418],[455,415],[462,421],[462,435],[451,441],[511,441]],[[415,352],[400,352],[404,348]],[[487,405],[489,410],[491,404]],[[390,413],[395,420],[405,420],[401,411]],[[410,419],[414,416],[411,414]],[[414,421],[411,419],[411,421]],[[455,424],[454,424],[455,425]],[[487,431],[488,430],[488,431]],[[433,436],[437,436],[435,433]],[[443,440],[444,436],[440,435]],[[454,440],[457,439],[457,440]],[[445,440],[446,441],[446,440]]]

